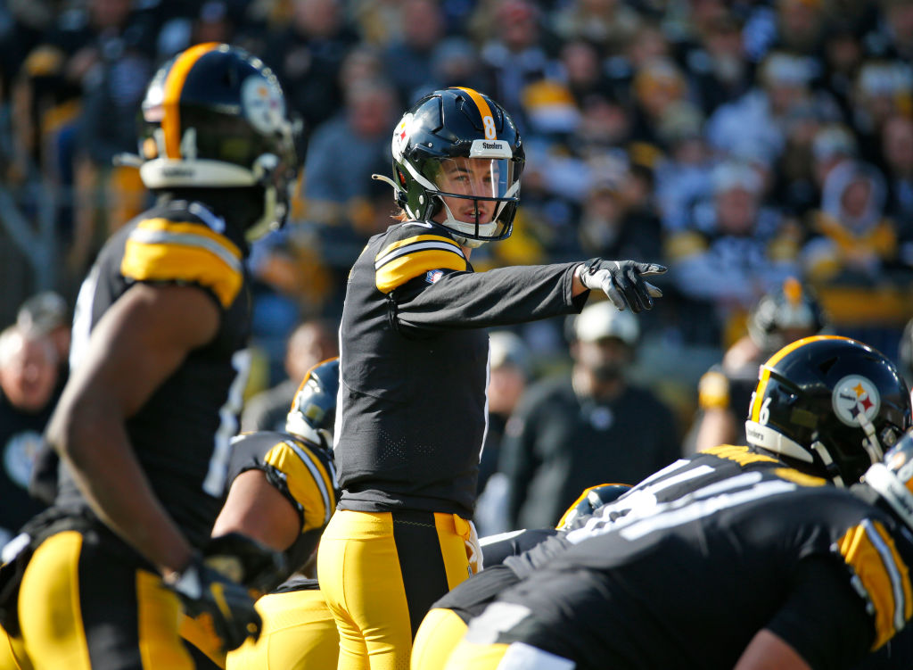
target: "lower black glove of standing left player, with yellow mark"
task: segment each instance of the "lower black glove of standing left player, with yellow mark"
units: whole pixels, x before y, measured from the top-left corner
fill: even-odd
[[[187,616],[212,619],[226,653],[237,649],[248,637],[259,637],[263,622],[247,589],[207,567],[203,558],[195,556],[180,575],[166,580],[165,586],[177,593]]]

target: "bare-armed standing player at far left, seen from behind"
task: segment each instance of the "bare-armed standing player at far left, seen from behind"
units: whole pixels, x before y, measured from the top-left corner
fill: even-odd
[[[21,578],[18,606],[0,606],[36,668],[192,667],[182,606],[226,647],[259,624],[208,548],[246,380],[248,240],[284,219],[293,124],[275,76],[215,43],[158,70],[141,122],[136,163],[158,201],[79,292],[46,433],[57,499],[0,572],[4,587]]]

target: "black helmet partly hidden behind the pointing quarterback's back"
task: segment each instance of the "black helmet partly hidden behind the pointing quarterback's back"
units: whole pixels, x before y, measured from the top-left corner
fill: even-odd
[[[286,431],[331,449],[339,388],[339,356],[311,367],[291,401]]]

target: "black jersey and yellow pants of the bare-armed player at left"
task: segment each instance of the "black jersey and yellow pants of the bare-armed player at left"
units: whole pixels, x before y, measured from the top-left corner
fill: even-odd
[[[212,296],[222,314],[213,341],[191,351],[125,424],[155,495],[196,548],[220,508],[247,377],[247,244],[232,207],[213,200],[163,198],[106,243],[79,292],[71,359],[79,366],[89,332],[137,282],[193,285]],[[103,526],[66,468],[55,504],[26,530],[37,548],[18,623],[37,667],[191,667],[175,625],[177,597]]]

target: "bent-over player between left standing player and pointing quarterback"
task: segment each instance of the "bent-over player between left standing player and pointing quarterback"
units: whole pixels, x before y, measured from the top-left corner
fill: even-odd
[[[336,667],[336,623],[317,580],[299,571],[310,570],[320,534],[336,508],[331,450],[338,390],[339,358],[331,358],[305,375],[292,400],[285,432],[244,433],[232,441],[226,503],[215,520],[213,537],[217,541],[241,534],[257,540],[281,551],[286,569],[274,575],[276,580],[268,586],[271,592],[257,600],[263,619],[257,642],[248,641],[227,658],[205,621],[184,619],[184,638],[219,667]],[[243,583],[254,586],[252,576],[247,577],[241,579]],[[197,658],[197,665],[206,665]]]

